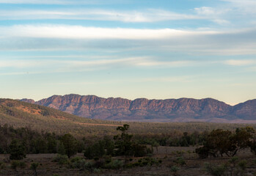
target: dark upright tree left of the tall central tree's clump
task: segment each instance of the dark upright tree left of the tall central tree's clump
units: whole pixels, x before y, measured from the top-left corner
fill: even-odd
[[[62,136],[61,141],[65,147],[65,154],[68,158],[77,153],[77,141],[70,133]]]

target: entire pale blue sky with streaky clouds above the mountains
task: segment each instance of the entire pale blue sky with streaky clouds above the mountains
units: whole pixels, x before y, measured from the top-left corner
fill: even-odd
[[[256,98],[255,0],[0,0],[0,98]]]

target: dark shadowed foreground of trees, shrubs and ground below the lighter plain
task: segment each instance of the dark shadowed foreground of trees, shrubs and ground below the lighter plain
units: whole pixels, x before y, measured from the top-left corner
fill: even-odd
[[[125,175],[147,168],[141,169],[143,175],[256,175],[256,137],[252,127],[184,132],[181,136],[133,135],[129,127],[119,126],[117,135],[92,141],[70,133],[56,135],[0,126],[0,174]],[[170,147],[175,150],[170,151]],[[41,153],[45,153],[47,161]],[[42,172],[45,168],[46,173]],[[151,169],[154,172],[148,172]],[[189,172],[191,169],[196,172]]]

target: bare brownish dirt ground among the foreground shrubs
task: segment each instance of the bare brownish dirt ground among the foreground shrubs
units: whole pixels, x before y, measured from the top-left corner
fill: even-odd
[[[175,164],[175,160],[179,157],[184,158],[186,164],[183,166],[178,165],[177,175],[180,176],[206,176],[209,175],[205,171],[205,163],[218,165],[227,163],[230,158],[206,158],[200,159],[197,154],[194,153],[194,150],[197,147],[158,147],[154,149],[153,158],[161,160],[162,163],[159,166],[134,166],[131,169],[101,169],[97,174],[90,174],[87,171],[80,171],[78,169],[70,169],[67,166],[60,166],[56,162],[53,162],[53,158],[56,154],[29,154],[26,155],[26,158],[23,161],[26,163],[24,169],[14,169],[10,168],[9,155],[0,155],[0,161],[4,162],[4,168],[0,168],[1,176],[17,176],[17,175],[34,175],[32,169],[30,169],[30,164],[32,162],[38,162],[40,166],[37,168],[38,176],[70,176],[70,175],[100,175],[100,176],[144,176],[144,175],[162,175],[170,176],[174,175],[171,171],[171,167]],[[78,153],[77,156],[83,157],[83,153]],[[255,175],[256,173],[256,159],[249,152],[249,150],[243,150],[238,153],[239,160],[246,161],[246,175]],[[138,160],[139,158],[133,158],[133,161]]]

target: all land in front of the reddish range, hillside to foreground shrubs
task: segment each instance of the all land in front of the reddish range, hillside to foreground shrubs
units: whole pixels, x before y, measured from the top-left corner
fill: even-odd
[[[255,153],[255,125],[126,125],[0,100],[0,175],[256,175]]]

